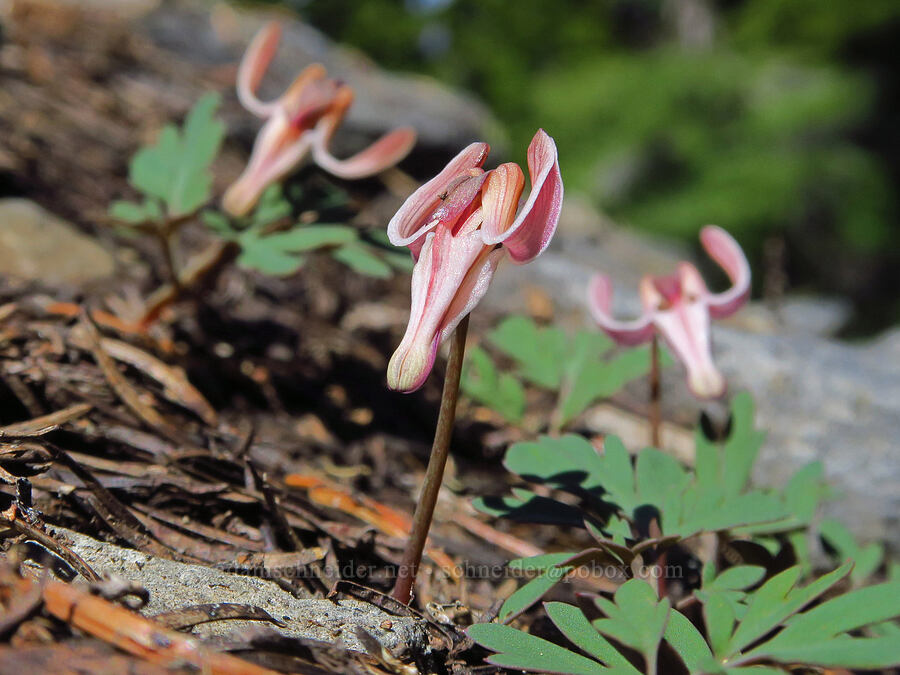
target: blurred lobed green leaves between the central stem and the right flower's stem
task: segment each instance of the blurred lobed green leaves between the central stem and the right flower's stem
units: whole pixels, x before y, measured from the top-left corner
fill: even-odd
[[[556,326],[538,326],[525,316],[510,316],[487,335],[496,351],[515,363],[514,374],[542,389],[556,392],[552,415],[556,429],[565,427],[594,401],[616,393],[650,367],[648,348],[609,356],[614,343],[596,330],[573,337]],[[668,363],[670,359],[666,359]],[[463,391],[511,422],[519,421],[521,385],[510,374],[498,373],[484,351],[468,367]]]

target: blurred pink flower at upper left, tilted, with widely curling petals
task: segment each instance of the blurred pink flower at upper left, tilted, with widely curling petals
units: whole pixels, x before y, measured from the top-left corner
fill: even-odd
[[[253,38],[238,70],[238,99],[247,110],[266,120],[247,168],[228,188],[222,200],[226,211],[245,215],[268,185],[283,178],[312,152],[320,167],[339,178],[372,176],[403,159],[416,142],[409,128],[391,131],[365,150],[338,159],[328,150],[331,137],[353,103],[353,90],[327,77],[318,63],[297,76],[281,98],[261,101],[256,90],[275,56],[281,28],[269,23]]]

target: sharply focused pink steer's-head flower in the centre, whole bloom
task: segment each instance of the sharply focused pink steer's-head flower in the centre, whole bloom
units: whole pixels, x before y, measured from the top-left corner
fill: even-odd
[[[534,260],[556,231],[563,185],[553,139],[541,129],[528,146],[531,193],[521,209],[522,169],[507,163],[485,171],[489,151],[472,143],[388,224],[391,243],[416,260],[409,325],[388,364],[391,389],[421,387],[438,346],[481,300],[500,260]]]

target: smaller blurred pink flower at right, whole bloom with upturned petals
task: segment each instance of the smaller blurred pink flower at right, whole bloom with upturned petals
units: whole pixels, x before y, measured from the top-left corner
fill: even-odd
[[[712,360],[710,318],[730,316],[747,302],[750,264],[734,238],[720,227],[704,227],[700,242],[731,279],[727,291],[711,293],[697,268],[682,262],[674,275],[641,280],[644,313],[638,319],[618,321],[612,317],[612,285],[602,274],[591,280],[589,304],[594,319],[619,344],[636,345],[654,333],[661,335],[687,369],[688,387],[694,395],[715,398],[725,393],[725,378]]]

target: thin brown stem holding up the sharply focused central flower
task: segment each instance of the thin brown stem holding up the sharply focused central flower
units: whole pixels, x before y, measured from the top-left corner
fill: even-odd
[[[469,330],[469,317],[466,316],[453,332],[450,345],[450,359],[447,362],[447,374],[444,376],[444,391],[441,395],[441,410],[438,413],[437,428],[434,431],[434,443],[431,446],[431,457],[425,470],[425,484],[422,495],[416,505],[409,541],[403,552],[403,560],[397,569],[397,581],[391,595],[404,605],[412,599],[412,588],[416,580],[419,563],[422,562],[422,551],[428,539],[431,519],[434,517],[434,506],[444,478],[444,466],[450,453],[450,438],[453,435],[453,422],[456,418],[456,400],[459,397],[459,378],[462,374],[463,355],[466,351],[466,333]]]

